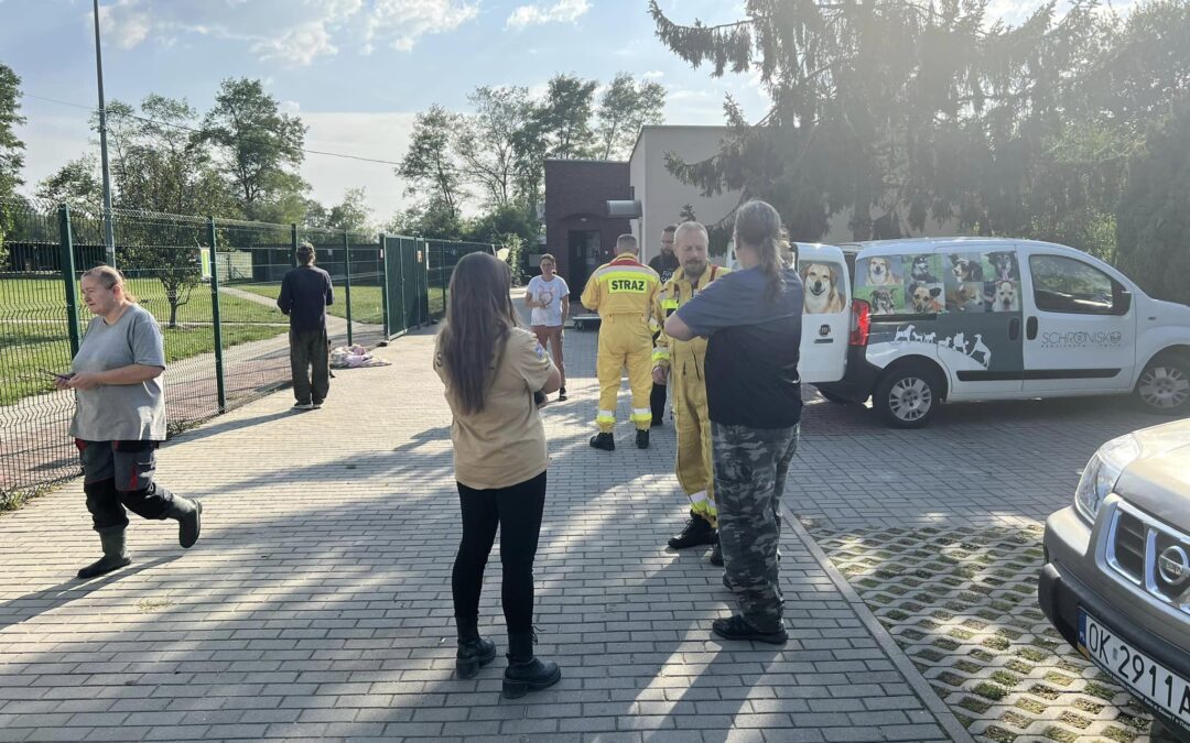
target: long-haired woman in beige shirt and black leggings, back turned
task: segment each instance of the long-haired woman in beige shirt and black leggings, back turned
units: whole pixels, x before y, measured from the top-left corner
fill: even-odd
[[[508,626],[505,697],[558,682],[556,663],[533,655],[533,559],[545,509],[545,429],[533,399],[560,385],[557,367],[533,334],[518,327],[508,265],[487,253],[465,256],[450,281],[446,323],[434,371],[446,385],[453,422],[455,479],[463,537],[451,577],[463,679],[496,656],[480,636],[483,568],[500,528],[501,604]]]

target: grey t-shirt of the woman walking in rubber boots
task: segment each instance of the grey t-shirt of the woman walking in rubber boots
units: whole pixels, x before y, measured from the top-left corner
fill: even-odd
[[[152,314],[133,304],[115,325],[94,317],[74,358],[76,372],[132,364],[165,369],[161,328]],[[165,395],[161,377],[140,384],[101,384],[75,390],[70,435],[83,441],[164,441]]]

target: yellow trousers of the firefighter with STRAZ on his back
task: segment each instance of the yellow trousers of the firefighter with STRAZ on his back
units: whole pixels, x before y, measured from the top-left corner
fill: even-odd
[[[649,430],[653,414],[649,395],[653,389],[653,333],[644,315],[608,315],[599,329],[599,413],[595,422],[602,434],[615,427],[615,404],[620,396],[620,372],[628,370],[632,388],[632,415],[637,430]]]

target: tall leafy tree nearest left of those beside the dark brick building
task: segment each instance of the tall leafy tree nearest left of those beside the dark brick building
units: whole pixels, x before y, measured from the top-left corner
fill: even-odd
[[[413,121],[409,149],[396,169],[396,175],[408,182],[406,194],[428,196],[436,210],[445,209],[455,220],[465,197],[453,149],[458,122],[457,114],[438,105],[419,113]]]

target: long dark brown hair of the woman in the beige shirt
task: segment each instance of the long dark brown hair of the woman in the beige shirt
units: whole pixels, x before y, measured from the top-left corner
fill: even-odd
[[[488,253],[470,253],[450,277],[450,302],[439,351],[464,414],[483,413],[493,365],[516,327],[512,271]]]

